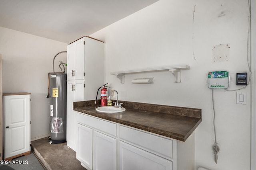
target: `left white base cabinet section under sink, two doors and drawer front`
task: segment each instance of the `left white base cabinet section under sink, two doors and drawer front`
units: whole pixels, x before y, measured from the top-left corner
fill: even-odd
[[[76,120],[76,158],[81,165],[87,170],[116,170],[117,124],[81,113],[76,113]]]

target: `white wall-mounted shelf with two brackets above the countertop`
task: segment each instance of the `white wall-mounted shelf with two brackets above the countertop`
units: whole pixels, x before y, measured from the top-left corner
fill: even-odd
[[[142,70],[129,70],[129,71],[120,71],[120,72],[110,72],[110,74],[115,75],[117,78],[121,80],[121,83],[124,83],[124,75],[125,74],[136,74],[136,73],[143,73],[143,72],[160,72],[160,71],[170,71],[176,78],[174,82],[180,83],[180,70],[188,70],[190,66],[188,65],[181,65],[181,66],[170,66],[164,68],[149,68],[149,69],[142,69]]]

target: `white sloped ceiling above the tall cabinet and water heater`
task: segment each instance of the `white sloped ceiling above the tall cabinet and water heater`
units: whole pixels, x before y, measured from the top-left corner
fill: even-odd
[[[71,43],[158,0],[0,0],[0,26]]]

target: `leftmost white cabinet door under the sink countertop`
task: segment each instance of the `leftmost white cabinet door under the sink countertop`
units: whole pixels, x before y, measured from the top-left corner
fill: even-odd
[[[92,170],[93,130],[77,123],[76,137],[76,158],[81,162],[81,165],[84,166],[84,168]]]

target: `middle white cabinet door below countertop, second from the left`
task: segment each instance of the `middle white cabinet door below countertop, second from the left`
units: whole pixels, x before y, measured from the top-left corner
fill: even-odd
[[[93,157],[95,170],[116,170],[117,140],[94,131]]]

